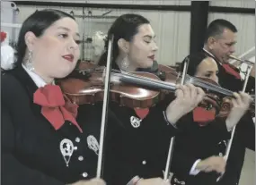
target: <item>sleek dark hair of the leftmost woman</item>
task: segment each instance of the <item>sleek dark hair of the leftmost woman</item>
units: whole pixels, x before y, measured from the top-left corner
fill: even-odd
[[[46,9],[32,13],[23,23],[19,33],[19,38],[16,46],[16,63],[15,66],[22,64],[22,60],[26,54],[27,45],[25,43],[25,34],[31,31],[36,37],[40,37],[46,29],[49,28],[55,21],[62,18],[75,18],[68,13],[59,10]]]

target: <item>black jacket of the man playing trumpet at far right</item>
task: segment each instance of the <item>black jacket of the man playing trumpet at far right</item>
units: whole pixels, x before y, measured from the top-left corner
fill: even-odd
[[[243,89],[243,80],[236,79],[232,74],[227,73],[216,57],[209,55],[204,50],[202,50],[202,52],[216,60],[219,69],[217,76],[222,88],[227,88],[236,92]],[[255,78],[252,76],[249,77],[246,92],[252,94],[255,92]],[[238,183],[243,168],[245,148],[248,147],[255,150],[255,125],[250,113],[243,116],[243,121],[237,124],[233,142],[229,160],[227,161],[225,176],[217,183],[219,185],[234,185]]]

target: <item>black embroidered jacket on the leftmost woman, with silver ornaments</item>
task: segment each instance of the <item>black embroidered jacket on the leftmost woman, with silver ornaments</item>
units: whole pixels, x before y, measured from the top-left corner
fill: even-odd
[[[2,77],[3,184],[64,185],[94,178],[102,106],[84,105],[78,109],[77,122],[83,133],[69,122],[55,130],[40,114],[40,105],[33,104],[37,88],[22,66]],[[111,116],[109,122],[118,125]],[[113,126],[111,130],[117,128]],[[66,149],[67,144],[74,145],[72,156],[66,156],[66,161],[70,160],[68,166],[60,149],[61,142]],[[108,137],[106,142],[110,142]]]

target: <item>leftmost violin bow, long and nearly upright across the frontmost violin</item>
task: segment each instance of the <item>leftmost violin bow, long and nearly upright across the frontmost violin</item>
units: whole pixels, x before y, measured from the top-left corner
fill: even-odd
[[[103,141],[105,136],[105,126],[108,122],[108,104],[109,104],[109,95],[110,95],[110,71],[111,71],[111,55],[112,55],[112,43],[114,36],[111,35],[109,38],[109,47],[108,47],[108,56],[107,56],[107,67],[105,68],[105,81],[104,81],[104,97],[102,105],[102,127],[100,135],[100,148],[98,155],[98,164],[97,164],[97,178],[101,178],[102,175],[102,156],[103,156]]]

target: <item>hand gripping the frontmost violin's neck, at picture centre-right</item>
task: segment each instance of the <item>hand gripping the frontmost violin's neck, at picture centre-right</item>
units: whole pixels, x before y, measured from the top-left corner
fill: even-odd
[[[175,95],[176,98],[166,109],[167,120],[172,123],[178,122],[183,115],[197,107],[205,97],[205,92],[192,84],[178,85]]]

